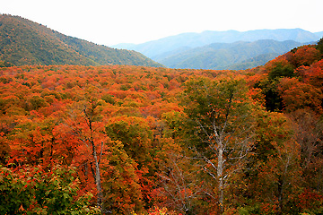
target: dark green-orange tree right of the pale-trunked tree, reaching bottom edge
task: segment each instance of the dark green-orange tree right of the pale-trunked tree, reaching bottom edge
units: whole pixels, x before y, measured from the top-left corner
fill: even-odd
[[[300,187],[300,146],[292,138],[282,113],[264,112],[257,118],[253,159],[249,159],[249,199],[261,202],[261,213],[295,214],[295,190]],[[258,203],[254,204],[257,205]],[[296,211],[295,211],[296,210]],[[259,212],[260,212],[259,211]]]

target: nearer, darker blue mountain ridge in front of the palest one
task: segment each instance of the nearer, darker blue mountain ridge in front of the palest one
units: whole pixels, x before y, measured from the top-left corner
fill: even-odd
[[[213,43],[204,47],[190,48],[178,54],[160,59],[170,68],[192,69],[246,69],[266,64],[275,56],[302,44],[292,40],[262,39],[254,42]]]

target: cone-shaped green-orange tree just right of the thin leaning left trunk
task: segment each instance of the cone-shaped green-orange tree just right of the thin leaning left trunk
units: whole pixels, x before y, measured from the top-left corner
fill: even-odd
[[[124,150],[122,142],[109,143],[109,166],[102,168],[104,208],[112,214],[143,211],[143,195],[136,163]]]

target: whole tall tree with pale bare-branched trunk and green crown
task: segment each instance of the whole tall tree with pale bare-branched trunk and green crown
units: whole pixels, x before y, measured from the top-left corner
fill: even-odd
[[[217,184],[219,213],[230,178],[243,167],[253,144],[254,103],[242,79],[192,79],[186,83],[185,109],[192,134],[189,147]]]

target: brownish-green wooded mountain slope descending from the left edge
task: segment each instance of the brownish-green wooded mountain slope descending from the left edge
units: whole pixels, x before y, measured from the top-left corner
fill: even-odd
[[[23,64],[162,66],[136,51],[99,46],[19,16],[0,14],[0,60]]]

